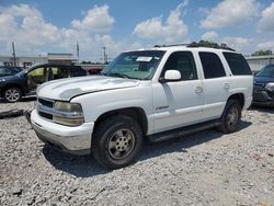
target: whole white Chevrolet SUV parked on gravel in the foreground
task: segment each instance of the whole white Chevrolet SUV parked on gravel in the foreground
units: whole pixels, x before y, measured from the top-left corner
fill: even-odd
[[[230,49],[160,46],[122,53],[101,76],[62,79],[37,91],[31,123],[39,139],[64,151],[125,167],[142,139],[208,127],[237,130],[252,102],[253,77]]]

